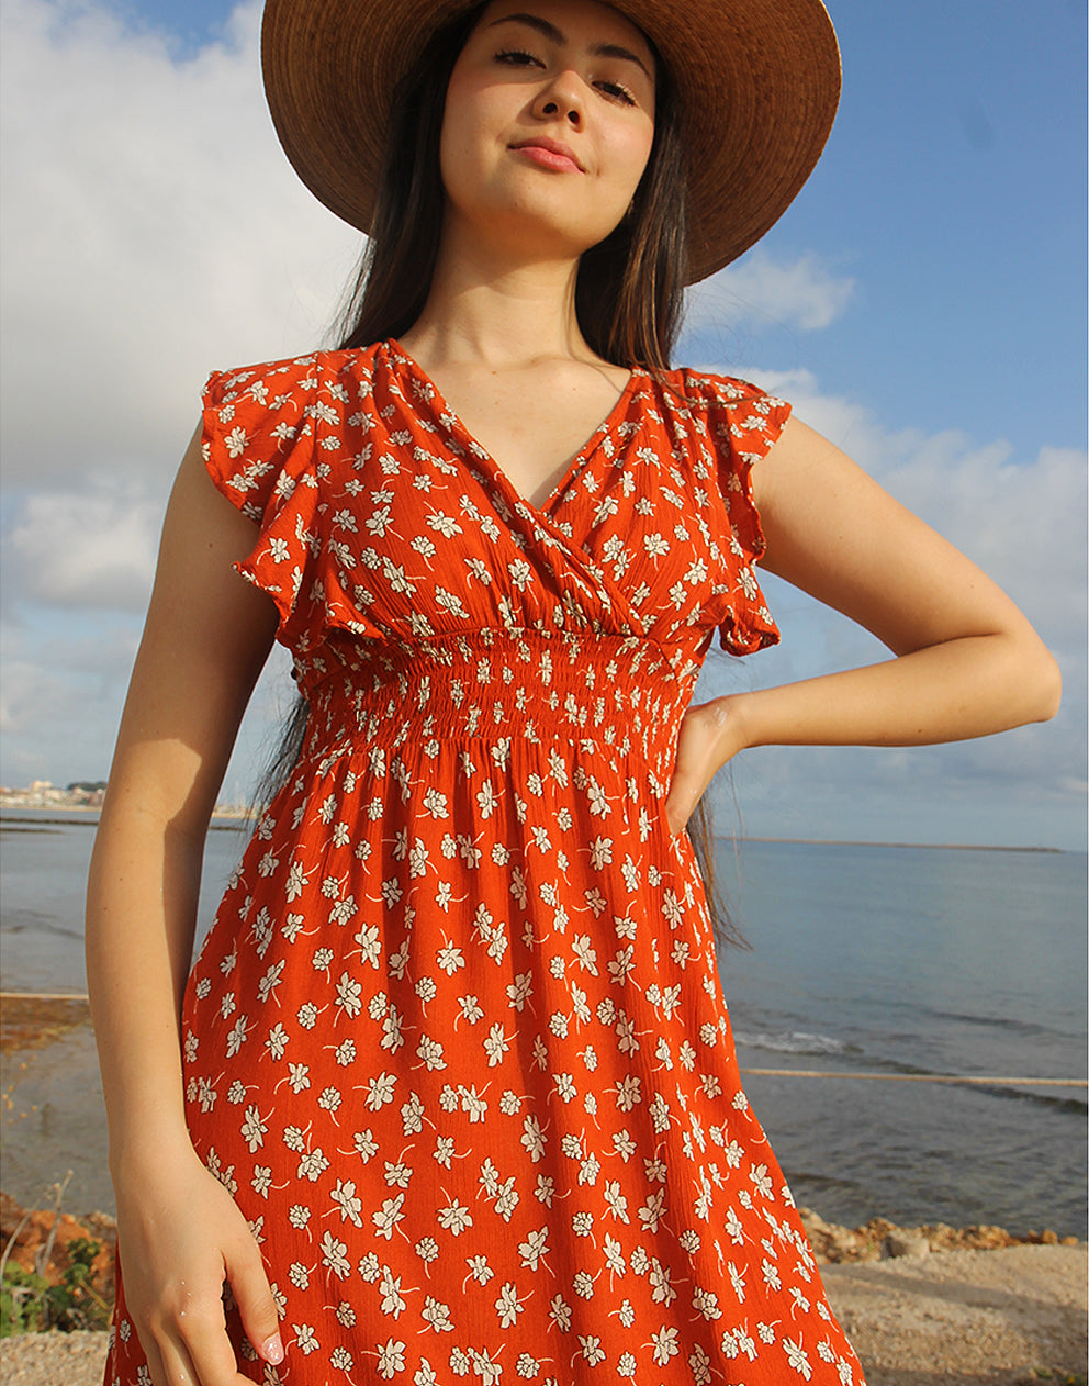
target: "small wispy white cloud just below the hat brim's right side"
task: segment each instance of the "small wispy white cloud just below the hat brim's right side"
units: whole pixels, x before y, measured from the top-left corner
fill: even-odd
[[[853,290],[852,279],[830,273],[816,255],[783,263],[758,247],[689,290],[684,326],[696,331],[722,323],[770,323],[816,331],[835,322]]]

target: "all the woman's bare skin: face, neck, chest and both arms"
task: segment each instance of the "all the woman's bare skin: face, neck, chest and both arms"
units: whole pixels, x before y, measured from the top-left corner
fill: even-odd
[[[510,18],[521,12],[558,37]],[[639,61],[603,55],[603,46]],[[572,299],[578,256],[623,216],[650,151],[654,91],[640,62],[650,71],[639,30],[604,6],[499,0],[450,82],[439,263],[402,344],[536,502],[628,376],[589,349]],[[513,148],[542,136],[568,144],[578,166]],[[910,746],[1054,714],[1057,667],[1020,611],[830,442],[791,419],[754,470],[754,495],[763,567],[865,625],[894,658],[690,708],[666,800],[675,832],[748,747]],[[89,884],[87,974],[118,1236],[154,1386],[245,1380],[223,1326],[224,1281],[251,1342],[270,1362],[283,1356],[259,1247],[190,1143],[179,1045],[204,837],[276,629],[270,599],[231,571],[254,538],[208,478],[194,434],[166,513]]]

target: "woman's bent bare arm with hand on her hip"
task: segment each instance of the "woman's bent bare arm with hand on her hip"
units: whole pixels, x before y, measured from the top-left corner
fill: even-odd
[[[842,611],[895,658],[689,710],[666,801],[680,832],[751,746],[924,746],[1042,722],[1059,667],[1013,602],[797,419],[752,471],[761,565]]]

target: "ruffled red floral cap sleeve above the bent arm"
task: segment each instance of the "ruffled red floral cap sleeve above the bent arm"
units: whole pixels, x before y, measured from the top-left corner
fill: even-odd
[[[729,550],[726,607],[719,643],[733,654],[752,654],[779,643],[779,628],[756,579],[754,565],[765,550],[763,529],[752,499],[752,467],[779,441],[790,405],[755,385],[723,376],[702,378],[708,442],[722,505],[716,536]]]

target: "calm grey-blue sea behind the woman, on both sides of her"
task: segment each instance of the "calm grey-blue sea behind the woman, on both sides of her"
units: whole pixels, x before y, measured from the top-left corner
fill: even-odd
[[[201,934],[247,832],[209,833]],[[3,990],[86,990],[93,839],[93,815],[0,819]],[[720,840],[716,875],[745,1091],[798,1203],[1086,1236],[1085,852]],[[112,1210],[89,1028],[7,1055],[0,1087],[4,1192],[40,1206],[71,1171],[68,1209]]]

